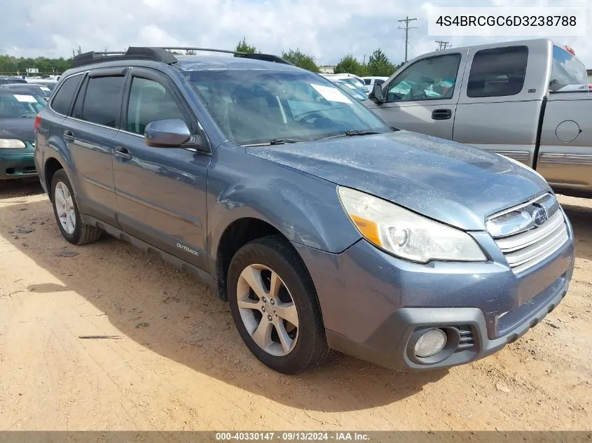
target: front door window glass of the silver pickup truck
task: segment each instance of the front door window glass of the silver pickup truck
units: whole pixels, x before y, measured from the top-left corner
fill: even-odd
[[[460,54],[448,54],[415,62],[389,85],[387,101],[452,98],[460,58]]]

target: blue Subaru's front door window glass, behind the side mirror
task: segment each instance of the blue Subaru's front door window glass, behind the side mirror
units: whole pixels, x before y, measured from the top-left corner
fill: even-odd
[[[144,129],[150,122],[171,118],[185,120],[177,102],[165,87],[154,80],[134,77],[125,130],[144,135]]]

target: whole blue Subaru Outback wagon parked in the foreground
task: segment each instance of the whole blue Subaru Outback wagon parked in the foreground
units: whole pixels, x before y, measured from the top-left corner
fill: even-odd
[[[531,169],[392,129],[273,55],[79,55],[36,128],[67,241],[106,231],[194,272],[287,374],[328,349],[399,370],[476,360],[572,277],[572,228]]]

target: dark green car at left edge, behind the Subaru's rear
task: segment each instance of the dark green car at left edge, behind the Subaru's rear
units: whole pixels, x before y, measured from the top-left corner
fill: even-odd
[[[0,89],[0,180],[35,176],[35,115],[46,101],[29,92]]]

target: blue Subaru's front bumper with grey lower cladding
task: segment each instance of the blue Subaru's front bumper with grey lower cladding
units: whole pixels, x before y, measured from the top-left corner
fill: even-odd
[[[495,353],[554,309],[573,272],[568,232],[556,253],[523,274],[511,271],[499,249],[488,262],[419,265],[364,240],[340,254],[294,246],[317,288],[332,349],[395,370],[425,370]],[[483,237],[482,246],[496,248]],[[438,358],[417,358],[415,339],[434,327],[446,330],[451,345]]]

